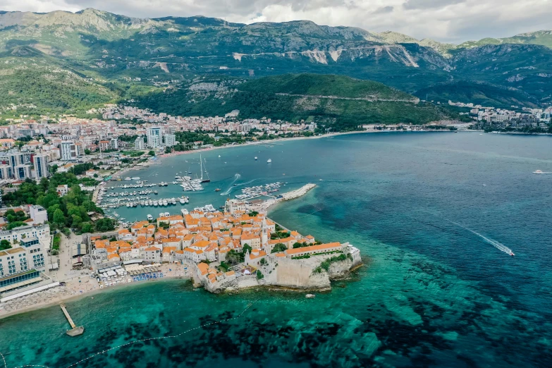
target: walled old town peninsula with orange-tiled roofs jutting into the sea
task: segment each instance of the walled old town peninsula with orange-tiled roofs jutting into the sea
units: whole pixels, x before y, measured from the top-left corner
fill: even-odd
[[[320,243],[271,221],[267,209],[292,200],[316,185],[307,184],[274,200],[249,203],[227,200],[223,211],[183,210],[183,215],[137,221],[116,240],[90,238],[90,267],[100,287],[159,276],[164,264],[183,265],[195,286],[212,293],[281,286],[327,290],[362,263],[349,243]]]

